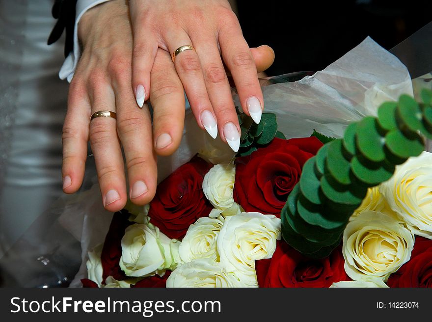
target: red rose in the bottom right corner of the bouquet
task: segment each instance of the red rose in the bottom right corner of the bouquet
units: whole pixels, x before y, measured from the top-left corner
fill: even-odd
[[[432,287],[432,241],[417,236],[411,259],[390,275],[389,287]]]

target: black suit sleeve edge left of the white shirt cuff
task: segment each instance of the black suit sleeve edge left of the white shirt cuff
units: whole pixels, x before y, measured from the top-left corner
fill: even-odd
[[[77,0],[55,0],[52,14],[57,23],[48,38],[48,45],[56,42],[66,30],[66,41],[64,45],[64,56],[74,48],[74,26],[75,26],[75,7]]]

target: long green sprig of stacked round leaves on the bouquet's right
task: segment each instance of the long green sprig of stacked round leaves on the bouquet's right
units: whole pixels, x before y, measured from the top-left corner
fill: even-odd
[[[432,91],[423,90],[421,96],[422,103],[402,95],[398,102],[382,104],[377,118],[352,123],[342,139],[314,131],[326,142],[304,164],[282,209],[286,242],[311,258],[324,258],[340,244],[367,188],[390,179],[395,165],[422,153],[420,134],[432,137]]]

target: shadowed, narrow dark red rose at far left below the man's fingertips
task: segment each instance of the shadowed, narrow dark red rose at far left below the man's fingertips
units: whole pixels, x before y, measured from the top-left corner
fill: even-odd
[[[121,240],[125,235],[125,229],[133,224],[133,222],[128,220],[130,215],[126,209],[123,209],[120,212],[114,213],[112,217],[101,254],[103,283],[105,283],[105,279],[108,276],[112,276],[117,281],[126,278],[126,274],[120,268],[119,263],[122,252]]]

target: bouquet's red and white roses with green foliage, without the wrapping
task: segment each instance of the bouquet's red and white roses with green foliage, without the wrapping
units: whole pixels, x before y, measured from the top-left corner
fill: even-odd
[[[432,137],[432,91],[422,96],[383,103],[343,139],[286,139],[276,115],[257,125],[238,112],[239,153],[212,164],[201,151],[148,207],[115,214],[83,285],[431,286],[432,154],[418,132]]]

